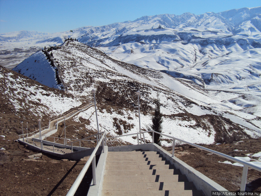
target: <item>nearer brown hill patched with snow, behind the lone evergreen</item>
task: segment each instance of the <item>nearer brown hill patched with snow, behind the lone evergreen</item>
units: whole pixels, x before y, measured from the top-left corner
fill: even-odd
[[[142,93],[142,130],[147,130],[147,125],[151,123],[151,112],[155,107],[153,99],[159,91],[165,134],[194,143],[215,143],[236,137],[261,136],[258,96],[245,95],[245,98],[237,93],[206,91],[190,80],[119,62],[95,48],[75,41],[66,41],[61,48],[50,52],[62,70],[68,94],[73,95],[75,101],[91,100],[91,89],[97,90],[97,104],[102,106],[98,111],[100,130],[108,131],[111,136],[131,134],[139,130],[135,95],[137,90]],[[42,52],[32,56],[36,62],[37,57],[43,60],[40,53]],[[28,68],[25,69],[25,66]],[[15,69],[23,70],[24,74],[34,72],[33,66],[29,66],[27,60]],[[41,77],[40,80],[49,78]],[[53,81],[53,84],[56,82]],[[251,106],[247,105],[246,99]],[[257,108],[253,109],[252,113],[247,112],[250,107]],[[55,108],[54,104],[53,109]],[[81,112],[73,120],[81,122],[81,119],[88,119],[92,112]],[[85,127],[87,130],[97,129],[95,116],[90,118],[90,123]],[[146,134],[145,138],[151,141],[149,134]],[[133,144],[137,142],[131,136],[122,140]],[[170,142],[163,138],[162,144],[168,145]]]

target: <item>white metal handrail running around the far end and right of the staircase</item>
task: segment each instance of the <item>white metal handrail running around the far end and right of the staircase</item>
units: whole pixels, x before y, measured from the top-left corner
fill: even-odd
[[[186,143],[186,144],[189,144],[191,146],[194,146],[196,148],[199,148],[201,150],[205,150],[207,152],[211,152],[213,154],[216,154],[220,157],[223,157],[225,159],[229,159],[231,161],[234,161],[236,163],[240,163],[242,164],[244,167],[243,167],[243,172],[242,172],[242,179],[241,179],[241,185],[240,185],[240,191],[244,191],[245,188],[246,188],[246,181],[247,181],[247,170],[248,168],[252,168],[254,170],[257,170],[257,171],[260,171],[261,172],[261,167],[258,167],[256,165],[254,165],[253,163],[251,162],[247,162],[247,161],[243,161],[241,159],[238,159],[238,158],[235,158],[235,157],[231,157],[229,155],[226,155],[226,154],[223,154],[221,152],[217,152],[215,150],[211,150],[211,149],[208,149],[208,148],[205,148],[205,147],[202,147],[200,145],[197,145],[197,144],[193,144],[193,143],[190,143],[190,142],[187,142],[187,141],[184,141],[184,140],[181,140],[181,139],[178,139],[178,138],[175,138],[175,137],[172,137],[172,136],[168,136],[166,134],[163,134],[163,133],[159,133],[159,132],[156,132],[156,131],[146,131],[146,132],[141,132],[142,134],[144,133],[148,133],[148,132],[153,132],[153,136],[152,136],[152,143],[154,143],[154,133],[157,133],[157,134],[160,134],[162,136],[165,136],[165,137],[169,137],[171,139],[173,139],[173,143],[172,143],[172,157],[174,157],[174,150],[175,150],[175,140],[177,141],[180,141],[182,143]],[[107,139],[112,139],[112,138],[118,138],[118,137],[124,137],[124,136],[130,136],[130,135],[137,135],[137,139],[138,139],[138,144],[139,144],[139,137],[138,137],[138,133],[134,133],[134,134],[127,134],[127,135],[120,135],[120,136],[113,136],[113,137],[108,137]],[[144,136],[144,135],[143,135]],[[142,139],[141,139],[142,140]],[[144,141],[145,141],[145,137],[144,137]]]

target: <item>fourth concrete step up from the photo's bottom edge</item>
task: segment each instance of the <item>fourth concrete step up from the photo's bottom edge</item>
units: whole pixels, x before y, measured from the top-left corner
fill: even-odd
[[[104,175],[177,175],[181,174],[180,170],[177,169],[147,169],[147,170],[105,170]]]

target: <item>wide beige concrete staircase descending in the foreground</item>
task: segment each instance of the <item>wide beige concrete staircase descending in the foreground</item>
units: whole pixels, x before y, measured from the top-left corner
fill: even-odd
[[[102,195],[203,195],[154,151],[108,152]]]

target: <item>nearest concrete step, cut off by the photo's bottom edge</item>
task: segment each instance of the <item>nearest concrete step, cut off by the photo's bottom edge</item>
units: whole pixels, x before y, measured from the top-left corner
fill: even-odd
[[[202,196],[201,190],[103,190],[102,196]]]

